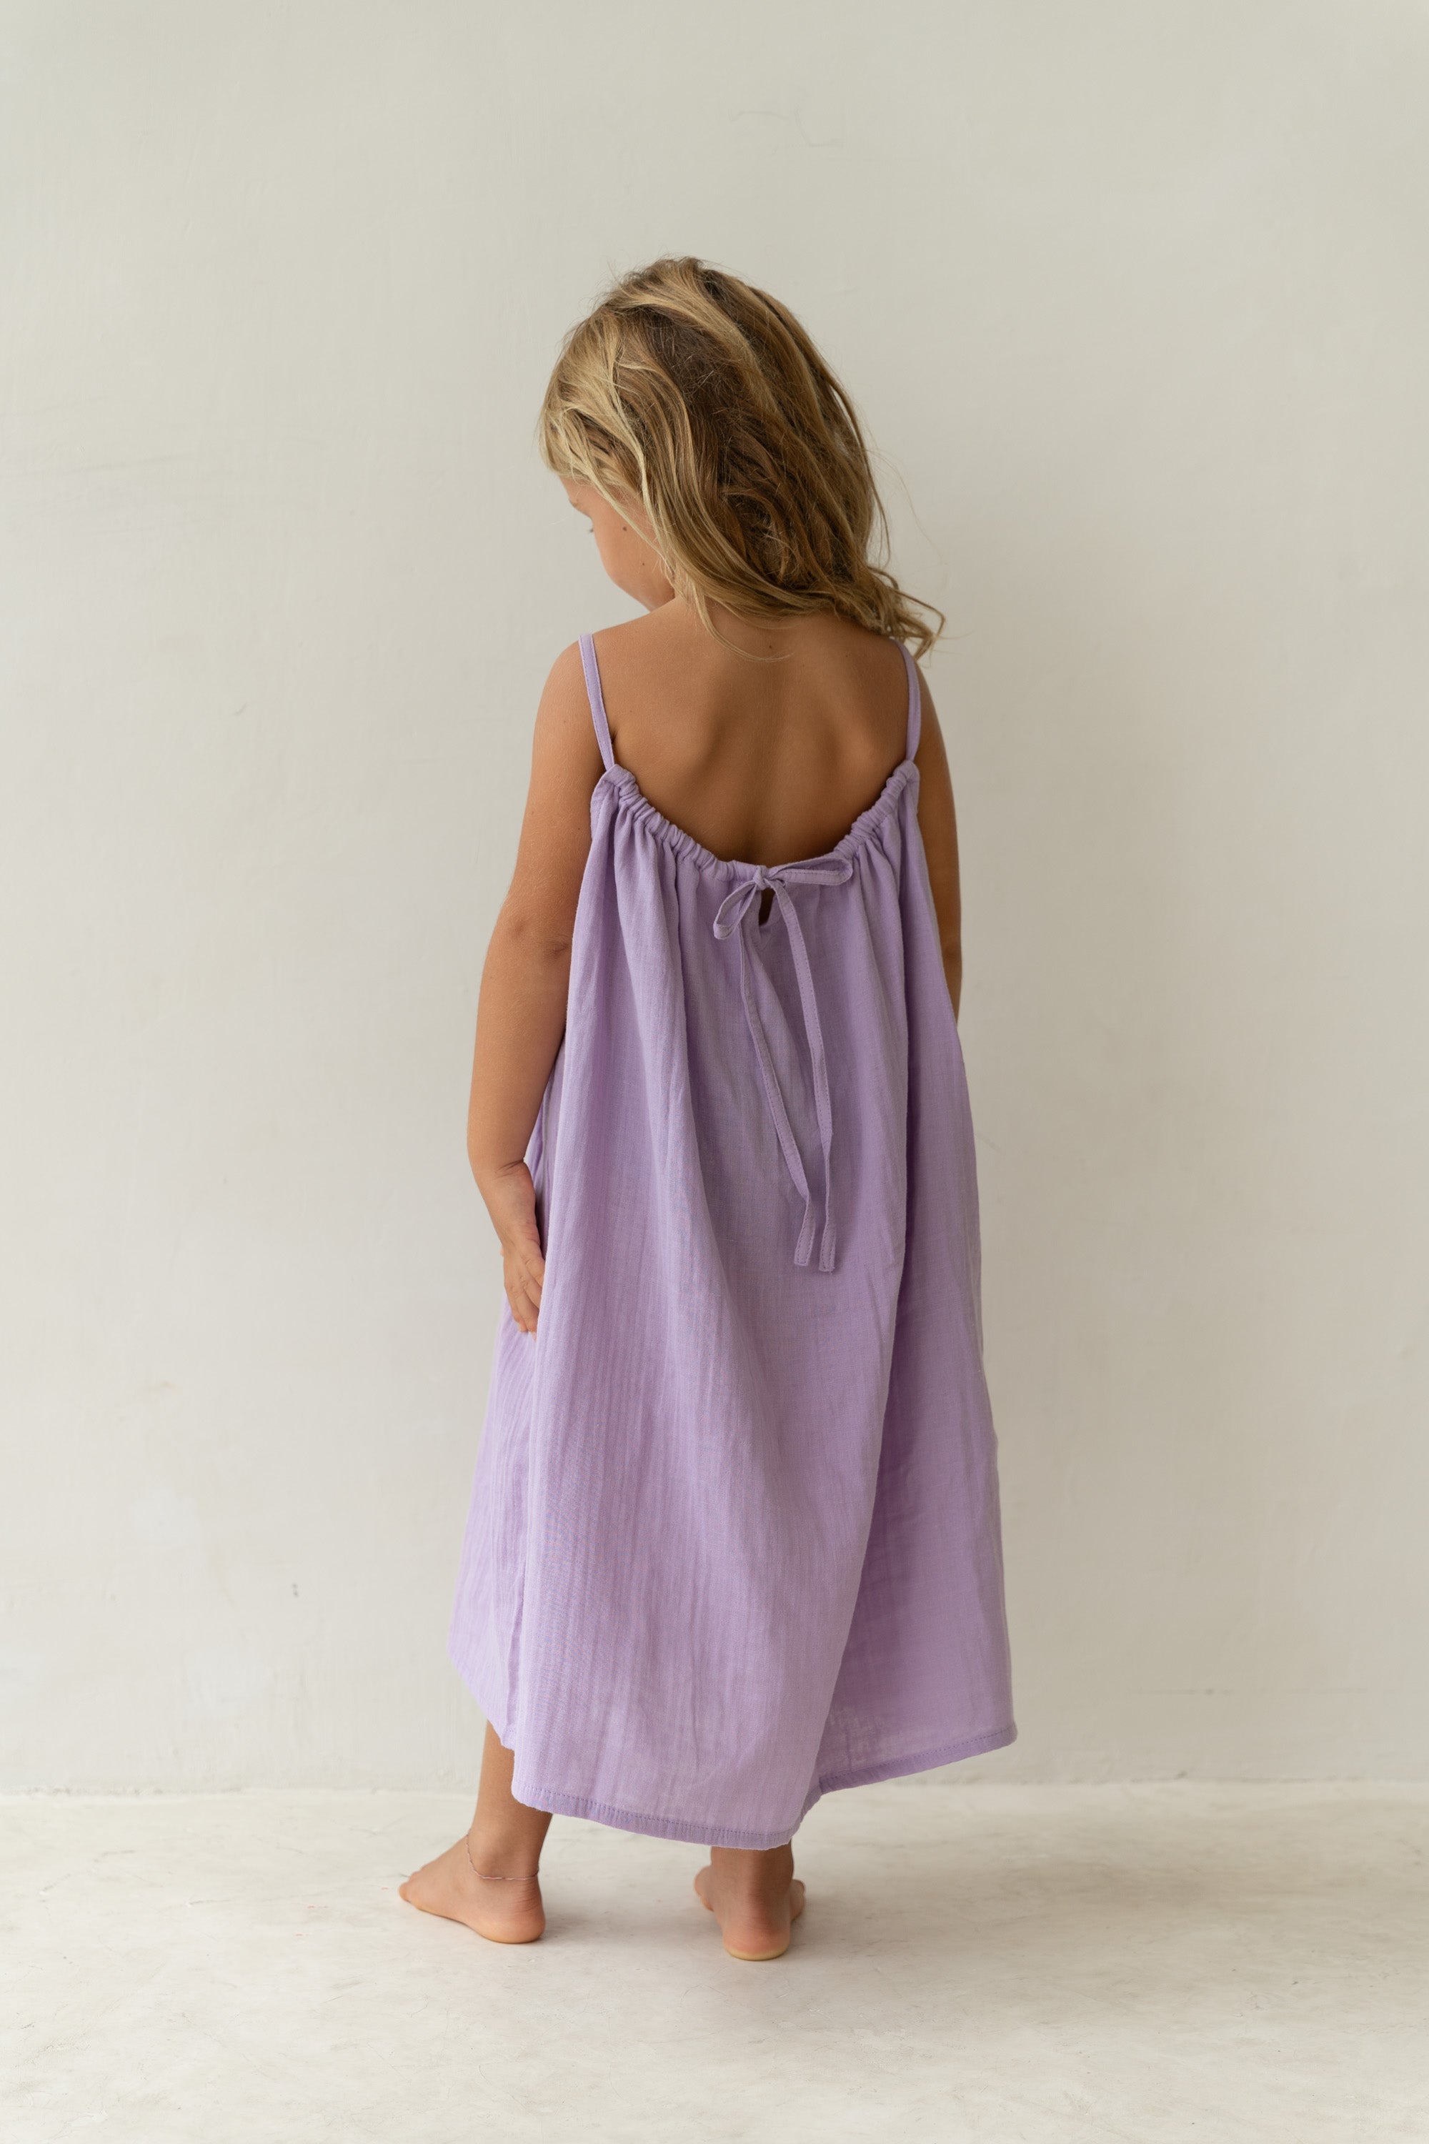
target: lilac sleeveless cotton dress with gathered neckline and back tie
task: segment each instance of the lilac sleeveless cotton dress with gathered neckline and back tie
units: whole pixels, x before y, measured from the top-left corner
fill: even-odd
[[[726,862],[615,763],[527,1162],[452,1659],[518,1801],[707,1846],[1013,1741],[973,1121],[919,684],[827,855]]]

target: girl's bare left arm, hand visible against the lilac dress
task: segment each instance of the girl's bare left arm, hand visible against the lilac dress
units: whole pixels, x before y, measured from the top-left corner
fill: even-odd
[[[501,1239],[506,1299],[527,1334],[536,1331],[544,1259],[525,1149],[566,1031],[570,943],[600,772],[581,650],[568,647],[536,712],[516,870],[482,967],[467,1113],[471,1175]]]

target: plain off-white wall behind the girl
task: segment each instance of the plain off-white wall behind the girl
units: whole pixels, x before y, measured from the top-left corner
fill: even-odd
[[[1423,1775],[1429,19],[6,4],[2,1784],[469,1780],[469,1031],[608,270],[951,613],[1022,1741]]]

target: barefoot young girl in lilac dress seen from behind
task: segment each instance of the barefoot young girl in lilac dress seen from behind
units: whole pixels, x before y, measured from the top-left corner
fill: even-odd
[[[724,1949],[778,1957],[821,1795],[1016,1734],[936,632],[844,390],[733,274],[617,283],[540,442],[647,615],[551,671],[482,973],[488,1728],[403,1897],[531,1942],[587,1816],[707,1844]]]

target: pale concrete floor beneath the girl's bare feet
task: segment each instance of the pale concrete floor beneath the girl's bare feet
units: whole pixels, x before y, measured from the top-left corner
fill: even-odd
[[[403,1906],[467,1816],[0,1803],[6,2144],[1429,2140],[1429,1788],[831,1795],[767,1966],[598,1825],[529,1949]]]

